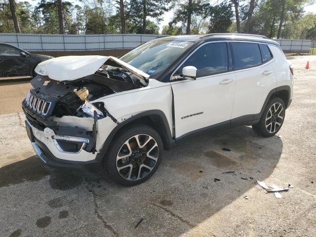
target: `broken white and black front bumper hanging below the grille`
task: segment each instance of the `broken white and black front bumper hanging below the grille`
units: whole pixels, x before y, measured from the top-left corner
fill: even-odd
[[[53,119],[53,127],[31,121],[26,114],[26,129],[32,146],[49,167],[76,169],[96,173],[102,158],[97,156],[104,141],[117,125],[111,118],[97,120],[97,138],[93,138],[93,119],[66,116]],[[90,131],[91,130],[91,131]]]

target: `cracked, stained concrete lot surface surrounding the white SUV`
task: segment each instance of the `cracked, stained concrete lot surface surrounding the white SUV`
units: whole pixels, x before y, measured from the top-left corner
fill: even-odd
[[[205,134],[164,152],[157,173],[129,188],[45,167],[20,108],[30,84],[0,82],[0,237],[316,236],[316,56],[289,60],[281,139],[247,126]],[[256,179],[294,188],[276,198]]]

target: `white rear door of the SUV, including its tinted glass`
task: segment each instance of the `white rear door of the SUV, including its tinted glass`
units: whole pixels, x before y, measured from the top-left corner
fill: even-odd
[[[276,76],[271,63],[274,61],[266,44],[250,42],[232,42],[231,48],[235,60],[236,92],[232,114],[234,118],[248,116],[254,120],[264,105],[269,92],[276,88]],[[259,116],[260,118],[260,116]]]

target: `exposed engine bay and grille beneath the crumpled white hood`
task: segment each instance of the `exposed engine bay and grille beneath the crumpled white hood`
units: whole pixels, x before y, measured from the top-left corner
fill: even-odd
[[[26,98],[26,105],[32,105],[41,116],[77,116],[93,117],[86,108],[88,102],[121,91],[144,87],[132,73],[114,66],[102,65],[93,75],[76,80],[53,80],[38,75],[31,80],[34,88]],[[33,97],[32,97],[33,95]],[[32,98],[31,98],[32,97]],[[50,103],[49,108],[41,108]],[[102,103],[96,103],[98,116],[106,111]],[[47,106],[46,106],[47,107]],[[44,110],[44,111],[43,111]]]

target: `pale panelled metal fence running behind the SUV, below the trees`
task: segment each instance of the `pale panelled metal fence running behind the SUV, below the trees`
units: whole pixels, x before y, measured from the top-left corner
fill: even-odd
[[[86,51],[131,49],[163,35],[39,35],[0,34],[0,42],[10,43],[28,51]],[[311,40],[276,40],[283,51],[308,52]]]

